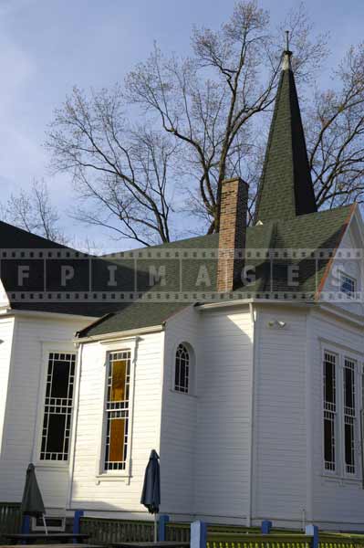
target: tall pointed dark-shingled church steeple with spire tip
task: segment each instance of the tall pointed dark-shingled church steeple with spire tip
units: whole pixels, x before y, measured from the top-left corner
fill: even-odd
[[[287,38],[259,183],[255,223],[317,211],[291,56]]]

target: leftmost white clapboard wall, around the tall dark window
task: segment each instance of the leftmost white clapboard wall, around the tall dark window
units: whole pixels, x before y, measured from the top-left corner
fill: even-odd
[[[63,349],[76,352],[72,342],[74,333],[86,323],[85,320],[75,321],[67,317],[65,320],[42,319],[36,315],[15,320],[0,460],[0,498],[3,501],[21,500],[26,467],[34,461],[47,509],[66,507],[68,466],[56,469],[45,461],[37,462],[41,426],[36,421],[40,418],[41,424],[39,395],[46,382],[44,357],[47,344],[52,344],[53,350],[61,344]]]

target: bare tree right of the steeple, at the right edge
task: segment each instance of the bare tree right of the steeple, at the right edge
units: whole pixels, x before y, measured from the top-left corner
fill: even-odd
[[[364,43],[333,74],[335,90],[317,91],[307,111],[307,148],[318,207],[364,194]]]

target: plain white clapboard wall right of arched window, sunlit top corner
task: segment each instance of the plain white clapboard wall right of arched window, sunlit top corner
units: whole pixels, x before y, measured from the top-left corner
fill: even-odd
[[[194,512],[242,522],[249,507],[253,323],[247,307],[204,311],[197,364]]]

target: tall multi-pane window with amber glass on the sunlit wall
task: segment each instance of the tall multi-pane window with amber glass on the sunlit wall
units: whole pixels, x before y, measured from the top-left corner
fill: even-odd
[[[128,451],[130,351],[111,352],[108,360],[105,470],[123,470]]]

